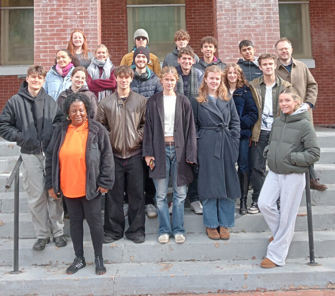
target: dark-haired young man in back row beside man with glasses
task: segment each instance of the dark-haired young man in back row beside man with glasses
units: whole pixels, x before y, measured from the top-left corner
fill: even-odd
[[[242,40],[238,47],[242,59],[239,59],[237,64],[242,68],[246,79],[252,81],[262,76],[262,70],[259,68],[257,58],[254,56],[256,49],[253,43],[250,40]]]

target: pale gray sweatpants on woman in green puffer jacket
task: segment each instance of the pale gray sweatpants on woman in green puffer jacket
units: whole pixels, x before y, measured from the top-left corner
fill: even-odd
[[[276,265],[285,265],[305,183],[305,174],[280,175],[269,171],[260,191],[258,208],[273,236],[266,256]],[[280,211],[276,204],[278,197],[281,198]]]

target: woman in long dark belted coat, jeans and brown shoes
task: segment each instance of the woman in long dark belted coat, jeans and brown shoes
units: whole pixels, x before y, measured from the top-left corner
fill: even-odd
[[[209,238],[229,239],[228,228],[235,226],[234,198],[240,197],[235,169],[239,119],[219,67],[206,68],[199,94],[191,99],[191,104],[197,131],[203,224]]]

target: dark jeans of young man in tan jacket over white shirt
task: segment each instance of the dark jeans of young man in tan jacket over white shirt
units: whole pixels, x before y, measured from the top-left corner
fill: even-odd
[[[265,181],[266,159],[263,157],[263,152],[269,137],[270,131],[260,130],[258,142],[253,141],[251,144],[253,202],[258,201],[260,190]]]

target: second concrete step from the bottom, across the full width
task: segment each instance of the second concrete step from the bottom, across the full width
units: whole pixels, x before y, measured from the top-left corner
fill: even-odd
[[[188,233],[185,243],[176,244],[170,237],[167,244],[159,244],[157,234],[148,234],[145,242],[135,244],[127,238],[103,245],[103,256],[109,263],[142,263],[164,261],[213,261],[213,260],[262,260],[266,255],[270,232],[231,233],[228,241],[213,241],[204,233]],[[73,260],[74,251],[71,239],[66,247],[57,248],[50,242],[43,251],[33,251],[35,239],[20,239],[20,265],[60,265]],[[333,257],[335,233],[333,231],[314,231],[315,256]],[[84,241],[87,261],[94,261],[91,239]],[[13,240],[0,239],[0,265],[13,264]],[[308,258],[308,232],[294,234],[287,258]]]

